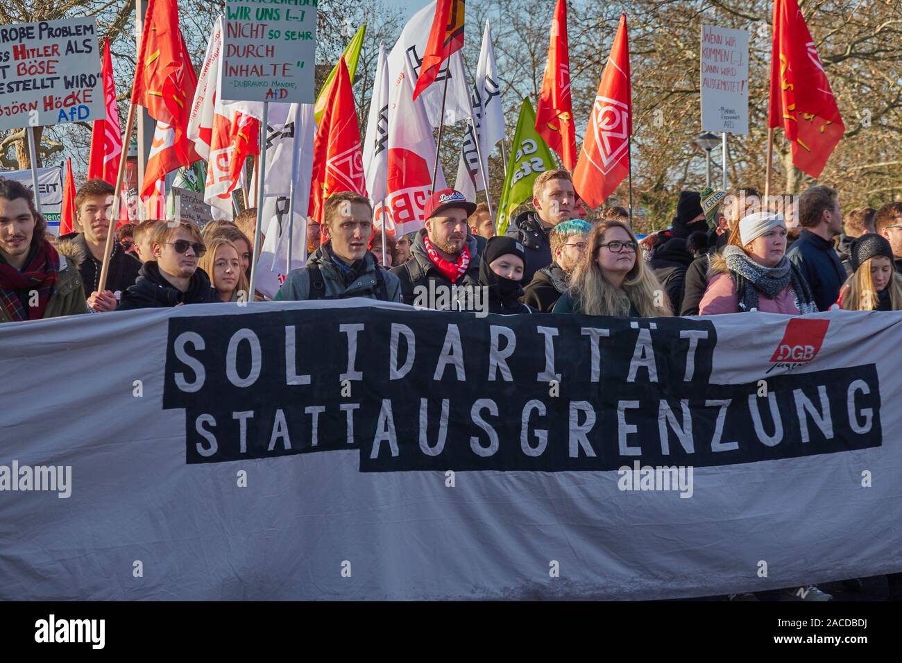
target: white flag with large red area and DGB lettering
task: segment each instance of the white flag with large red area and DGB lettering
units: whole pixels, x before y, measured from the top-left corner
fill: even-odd
[[[413,100],[413,80],[409,64],[402,75],[391,81],[385,229],[394,229],[396,237],[423,227],[423,208],[433,190],[436,141],[423,96]],[[436,190],[445,187],[439,163]],[[382,208],[376,207],[375,212],[376,223],[382,226]]]

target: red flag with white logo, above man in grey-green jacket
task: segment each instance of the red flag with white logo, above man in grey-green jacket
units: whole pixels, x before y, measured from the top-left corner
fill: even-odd
[[[333,193],[354,191],[366,196],[360,125],[344,57],[338,61],[338,73],[329,97],[313,143],[310,184],[310,216],[320,223],[323,204]]]

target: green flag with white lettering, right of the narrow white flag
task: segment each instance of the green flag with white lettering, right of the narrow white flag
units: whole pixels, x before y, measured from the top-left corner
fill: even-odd
[[[508,157],[508,174],[504,178],[502,199],[498,204],[498,235],[507,231],[511,212],[532,198],[532,182],[539,173],[557,168],[548,144],[536,132],[536,112],[523,99],[520,119],[513,134],[511,156]]]

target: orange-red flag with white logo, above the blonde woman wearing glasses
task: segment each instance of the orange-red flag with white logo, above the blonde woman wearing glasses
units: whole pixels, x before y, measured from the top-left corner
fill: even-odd
[[[630,42],[622,14],[573,171],[574,189],[589,207],[600,206],[630,171],[631,135]]]

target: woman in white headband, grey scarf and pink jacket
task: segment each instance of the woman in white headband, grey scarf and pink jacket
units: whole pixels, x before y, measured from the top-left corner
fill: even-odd
[[[723,252],[711,257],[700,316],[759,310],[797,316],[816,313],[805,276],[789,262],[787,225],[779,212],[743,216]]]

